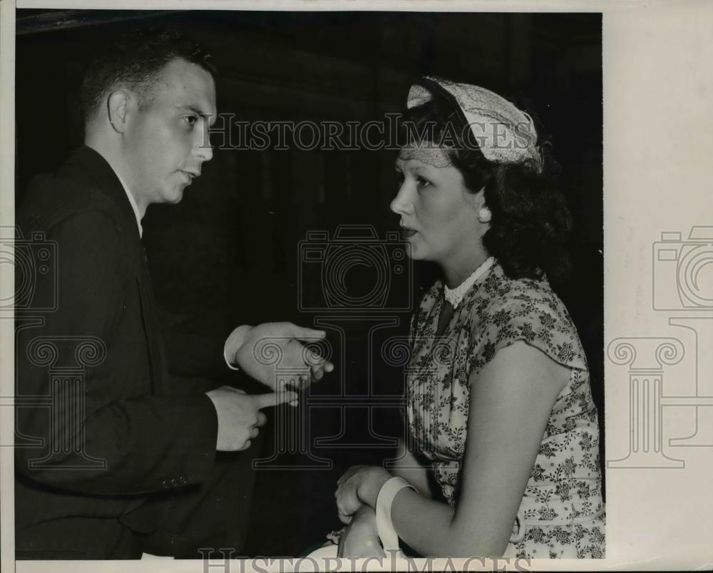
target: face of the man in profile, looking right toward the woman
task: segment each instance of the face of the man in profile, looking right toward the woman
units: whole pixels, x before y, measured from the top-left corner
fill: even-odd
[[[175,59],[163,68],[125,132],[126,182],[137,202],[178,203],[212,150],[215,83],[195,63]]]

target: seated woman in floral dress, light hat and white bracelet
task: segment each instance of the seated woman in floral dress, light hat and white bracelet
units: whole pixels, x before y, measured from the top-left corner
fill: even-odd
[[[399,476],[387,512],[418,554],[604,557],[588,366],[548,283],[567,271],[569,230],[549,146],[478,86],[423,78],[408,108],[391,210],[442,278],[411,322],[396,468],[339,480],[340,554],[381,554],[374,508]]]

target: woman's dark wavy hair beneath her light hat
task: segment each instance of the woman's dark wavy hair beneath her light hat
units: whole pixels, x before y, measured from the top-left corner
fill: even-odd
[[[467,140],[459,138],[457,145],[443,148],[463,175],[469,191],[476,193],[485,187],[485,202],[492,219],[483,234],[483,247],[498,259],[512,279],[538,279],[544,273],[553,282],[562,282],[570,274],[567,239],[571,217],[558,190],[560,166],[553,159],[550,141],[534,116],[533,121],[543,155],[541,172],[528,163],[488,161],[461,114],[438,94],[408,110],[402,127],[406,128],[409,143],[424,140],[438,143],[444,135],[452,142],[453,133],[466,134]],[[426,135],[415,142],[414,135],[419,139],[417,134]]]

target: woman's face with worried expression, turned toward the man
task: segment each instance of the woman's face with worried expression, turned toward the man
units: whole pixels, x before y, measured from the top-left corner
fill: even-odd
[[[478,222],[483,193],[471,193],[442,148],[431,143],[401,149],[396,159],[399,192],[391,210],[401,217],[411,258],[442,267],[471,263],[484,230]]]

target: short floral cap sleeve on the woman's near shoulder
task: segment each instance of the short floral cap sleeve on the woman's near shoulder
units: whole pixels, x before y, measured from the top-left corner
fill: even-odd
[[[588,370],[575,326],[551,291],[512,292],[493,301],[473,325],[471,372],[480,371],[499,350],[520,340],[563,366]]]

